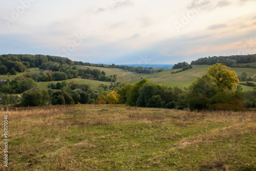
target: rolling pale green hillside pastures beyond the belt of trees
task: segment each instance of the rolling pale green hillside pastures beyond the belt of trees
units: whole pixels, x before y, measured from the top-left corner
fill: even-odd
[[[113,75],[117,74],[117,81],[126,82],[126,83],[136,83],[138,82],[141,77],[146,78],[152,82],[158,82],[162,83],[165,86],[168,87],[179,87],[184,88],[188,87],[189,84],[194,82],[198,77],[203,76],[207,72],[207,68],[209,66],[207,65],[201,65],[201,66],[193,66],[193,69],[186,70],[180,73],[171,74],[172,71],[177,70],[166,70],[163,72],[155,73],[155,74],[139,74],[134,72],[129,72],[121,69],[115,69],[115,68],[100,68],[100,67],[90,67],[90,66],[79,66],[81,68],[90,68],[90,69],[99,69],[100,71],[104,71],[106,75]],[[235,71],[238,75],[241,75],[242,72],[246,72],[248,76],[254,76],[256,74],[256,69],[252,68],[231,68],[231,70]],[[30,73],[40,73],[40,70],[38,68],[31,68],[28,71]],[[24,75],[24,73],[18,73],[16,76]],[[16,76],[10,75],[9,77],[6,76],[0,76],[0,79],[14,79]],[[110,82],[105,81],[97,81],[97,80],[89,80],[89,79],[82,79],[82,78],[74,78],[66,80],[67,82],[74,81],[75,83],[88,83],[90,84],[92,89],[97,89],[99,84],[106,84],[110,86]],[[52,82],[58,82],[58,81],[52,81]],[[37,85],[41,89],[46,89],[47,85],[52,82],[37,82]],[[242,88],[247,90],[252,90],[253,88],[242,86]]]

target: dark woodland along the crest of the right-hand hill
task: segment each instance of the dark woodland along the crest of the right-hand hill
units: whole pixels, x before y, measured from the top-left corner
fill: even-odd
[[[228,67],[256,68],[256,63],[250,64],[252,62],[256,62],[256,54],[205,57],[192,61],[191,65],[214,65],[215,63],[222,63]],[[248,65],[241,66],[239,65],[241,63],[248,63]]]

